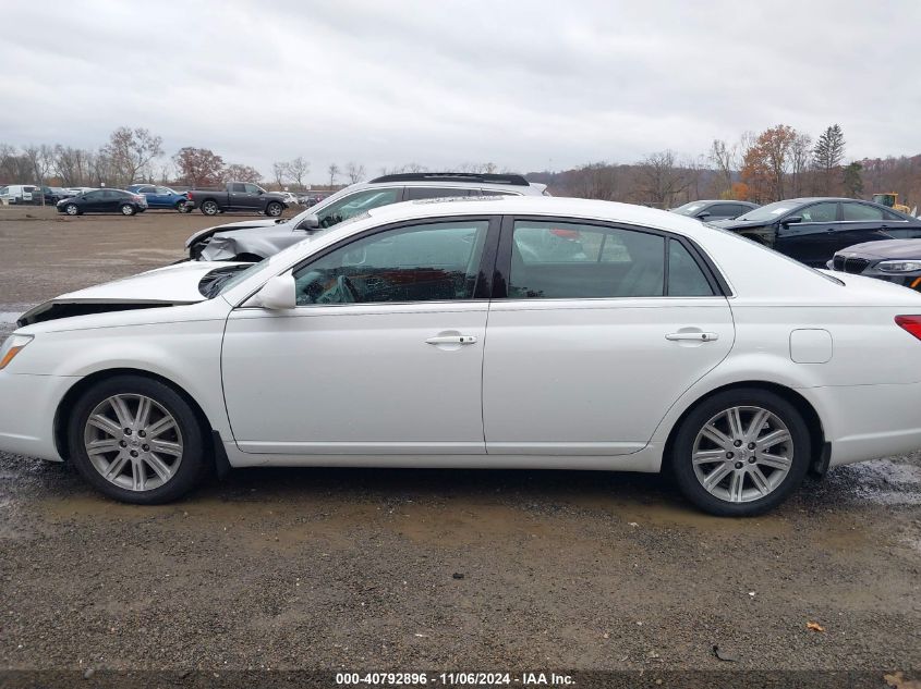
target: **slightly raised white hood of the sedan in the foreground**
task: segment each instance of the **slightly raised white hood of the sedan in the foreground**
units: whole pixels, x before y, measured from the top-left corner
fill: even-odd
[[[187,261],[62,294],[23,313],[19,325],[86,313],[204,302],[207,297],[199,291],[202,280],[209,272],[228,266],[226,262]]]

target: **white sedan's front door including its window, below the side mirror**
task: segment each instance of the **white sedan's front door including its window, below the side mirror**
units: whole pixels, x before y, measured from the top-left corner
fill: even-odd
[[[238,308],[222,352],[239,447],[284,455],[483,454],[497,227],[375,231],[295,268],[298,307]],[[485,259],[489,260],[489,259]]]

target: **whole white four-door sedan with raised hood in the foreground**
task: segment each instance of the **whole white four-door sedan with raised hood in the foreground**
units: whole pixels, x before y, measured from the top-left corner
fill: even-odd
[[[620,204],[377,208],[20,325],[0,450],[133,503],[215,466],[534,467],[665,470],[751,515],[921,446],[921,295]]]

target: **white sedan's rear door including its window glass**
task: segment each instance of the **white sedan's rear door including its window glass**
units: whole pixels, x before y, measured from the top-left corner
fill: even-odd
[[[732,346],[727,300],[693,253],[655,231],[507,222],[508,297],[490,306],[483,369],[487,453],[645,446]]]

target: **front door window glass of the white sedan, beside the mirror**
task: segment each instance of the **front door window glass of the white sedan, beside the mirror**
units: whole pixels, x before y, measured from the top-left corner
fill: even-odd
[[[388,230],[296,270],[298,305],[472,299],[489,222]]]

